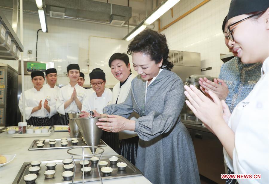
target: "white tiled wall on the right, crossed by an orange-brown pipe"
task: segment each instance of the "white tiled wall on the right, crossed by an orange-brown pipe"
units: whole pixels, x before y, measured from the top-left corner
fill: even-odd
[[[201,2],[201,0],[179,1],[173,7],[173,18],[171,11],[161,17],[161,28]],[[201,68],[212,67],[212,70],[204,71],[202,74],[218,77],[223,64],[220,54],[229,54],[221,30],[229,5],[230,0],[211,0],[162,31],[171,50],[201,53]]]

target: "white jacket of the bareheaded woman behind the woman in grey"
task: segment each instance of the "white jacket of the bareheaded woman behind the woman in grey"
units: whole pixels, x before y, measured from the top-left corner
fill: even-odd
[[[127,95],[130,92],[130,89],[131,89],[131,82],[135,77],[136,76],[134,74],[131,74],[131,75],[129,75],[128,79],[126,80],[126,82],[122,86],[120,86],[120,82],[118,82],[113,87],[112,104],[115,104],[117,99],[118,99],[117,104],[120,104],[120,103],[125,101],[125,99],[127,98]],[[133,112],[129,117],[129,119],[131,119],[131,120],[136,120],[137,118],[139,118],[139,115],[136,112]],[[132,138],[135,136],[137,136],[137,133],[134,131],[123,130],[123,131],[119,132],[119,139],[129,139],[129,138]]]

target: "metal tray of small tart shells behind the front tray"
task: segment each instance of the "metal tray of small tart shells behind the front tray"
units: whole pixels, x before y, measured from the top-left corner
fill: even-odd
[[[32,144],[28,148],[28,150],[46,150],[46,149],[61,149],[61,148],[71,148],[71,147],[77,147],[77,146],[85,146],[86,144],[82,139],[78,138],[79,141],[77,145],[72,145],[71,138],[68,138],[68,145],[67,146],[61,146],[61,139],[55,139],[56,145],[50,146],[49,139],[46,139],[44,142],[44,147],[37,147],[36,141],[39,141],[39,139],[33,140]],[[106,143],[100,139],[98,146],[106,146]]]

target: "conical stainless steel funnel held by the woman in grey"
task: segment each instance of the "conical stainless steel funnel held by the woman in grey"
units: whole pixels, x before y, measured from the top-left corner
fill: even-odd
[[[79,127],[80,132],[82,133],[82,136],[84,137],[88,146],[98,146],[100,142],[103,130],[95,125],[97,122],[100,122],[98,120],[99,118],[105,117],[72,119],[77,123],[77,126]],[[90,147],[90,149],[92,153],[95,153],[96,148]]]

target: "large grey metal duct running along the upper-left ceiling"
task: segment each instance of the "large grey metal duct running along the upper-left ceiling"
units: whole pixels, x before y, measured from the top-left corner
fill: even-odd
[[[13,1],[0,1],[1,7],[13,7]],[[112,6],[110,3],[99,1],[43,0],[43,3],[46,5],[47,12],[56,12],[52,14],[57,18],[63,17],[64,13],[64,17],[106,22],[111,23],[111,25],[122,25],[122,23],[118,21],[128,22],[128,20],[132,17],[132,7],[117,4],[113,4]],[[55,8],[62,8],[64,11],[59,11],[60,9],[55,11]],[[37,12],[38,10],[35,0],[23,0],[23,9],[31,12]]]

